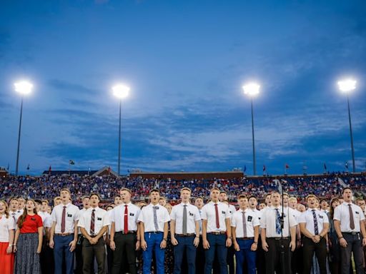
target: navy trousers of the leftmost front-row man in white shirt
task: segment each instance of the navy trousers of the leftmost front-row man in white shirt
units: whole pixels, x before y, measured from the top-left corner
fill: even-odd
[[[65,255],[66,274],[74,273],[74,253],[70,252],[69,243],[74,234],[67,236],[54,235],[54,273],[62,273],[62,258]]]

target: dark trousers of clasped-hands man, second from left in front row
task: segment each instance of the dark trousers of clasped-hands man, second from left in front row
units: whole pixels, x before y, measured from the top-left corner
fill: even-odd
[[[106,248],[103,237],[99,238],[95,245],[91,245],[89,240],[83,240],[83,273],[89,274],[91,269],[94,269],[94,258],[98,264],[98,274],[106,273],[105,260]],[[94,272],[94,271],[93,271]]]

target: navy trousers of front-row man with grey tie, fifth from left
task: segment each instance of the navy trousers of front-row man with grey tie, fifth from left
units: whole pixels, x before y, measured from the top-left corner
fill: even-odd
[[[184,252],[187,256],[188,274],[196,273],[196,248],[193,245],[194,236],[182,237],[176,235],[178,245],[174,246],[174,274],[182,273]]]

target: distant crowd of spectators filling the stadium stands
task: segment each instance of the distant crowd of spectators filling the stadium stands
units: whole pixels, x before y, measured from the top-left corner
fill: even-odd
[[[240,193],[264,198],[266,193],[284,190],[291,196],[302,201],[312,193],[318,197],[331,198],[340,196],[344,186],[350,186],[355,193],[366,192],[366,173],[330,173],[319,176],[264,176],[244,177],[235,179],[214,178],[209,180],[182,180],[130,178],[129,176],[115,178],[112,176],[10,176],[0,178],[0,193],[10,198],[21,196],[24,198],[53,199],[61,188],[69,188],[76,205],[81,204],[81,197],[89,193],[100,193],[102,201],[113,201],[119,189],[132,190],[133,201],[144,201],[153,188],[159,188],[162,196],[169,201],[179,200],[179,191],[182,187],[192,189],[192,196],[209,197],[209,190],[218,187],[226,191],[229,200],[234,201]]]

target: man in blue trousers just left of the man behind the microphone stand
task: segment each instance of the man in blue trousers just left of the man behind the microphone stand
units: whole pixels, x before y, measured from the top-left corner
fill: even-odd
[[[248,199],[244,195],[237,198],[239,210],[232,215],[232,240],[237,258],[237,274],[243,273],[244,261],[247,273],[256,273],[256,250],[259,238],[259,218],[257,213],[248,208]]]

